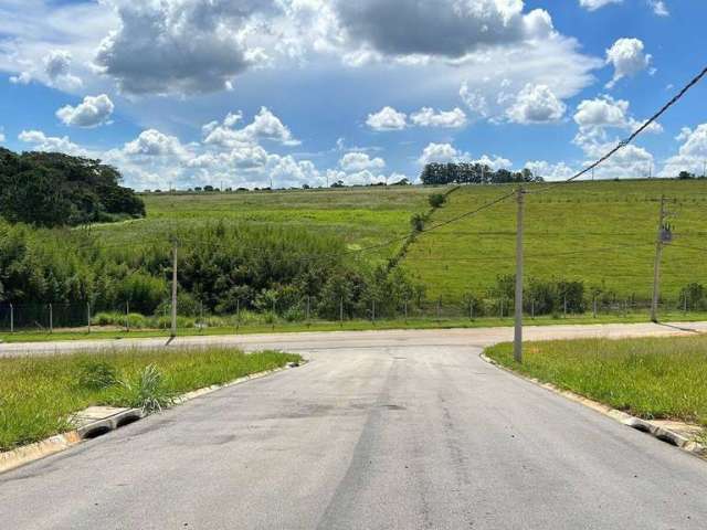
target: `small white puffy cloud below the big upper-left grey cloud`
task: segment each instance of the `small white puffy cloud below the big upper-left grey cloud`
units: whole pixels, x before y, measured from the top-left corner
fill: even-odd
[[[205,135],[204,142],[222,147],[238,147],[261,140],[275,141],[284,146],[302,144],[267,107],[261,107],[251,124],[242,129],[235,128],[242,119],[242,113],[229,113],[222,124],[218,121],[207,124],[202,127]]]

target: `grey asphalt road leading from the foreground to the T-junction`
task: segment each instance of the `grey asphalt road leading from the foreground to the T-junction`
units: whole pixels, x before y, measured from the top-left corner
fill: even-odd
[[[486,364],[479,347],[496,332],[507,338],[289,336],[284,346],[309,364],[0,476],[0,521],[13,530],[707,528],[706,463]]]

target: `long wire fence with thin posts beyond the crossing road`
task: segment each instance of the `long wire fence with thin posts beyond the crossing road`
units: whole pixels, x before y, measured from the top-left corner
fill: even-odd
[[[508,297],[484,297],[463,300],[445,300],[437,298],[408,300],[391,305],[384,300],[358,300],[345,298],[334,300],[302,297],[294,300],[273,300],[268,308],[253,308],[245,300],[239,303],[233,314],[215,315],[201,306],[189,314],[178,311],[178,328],[234,328],[241,327],[276,327],[282,325],[339,324],[352,321],[376,322],[460,322],[469,320],[497,320],[513,318],[514,301]],[[528,320],[542,317],[555,319],[627,317],[650,314],[650,301],[634,299],[602,300],[583,298],[578,303],[559,300],[553,310],[540,310],[544,305],[532,298],[525,300],[524,315]],[[547,306],[547,305],[545,305]],[[663,299],[659,312],[685,314],[703,311],[704,301],[693,304],[686,297],[680,299]],[[117,307],[93,307],[88,303],[77,304],[0,304],[0,332],[35,331],[51,333],[54,331],[136,330],[169,329],[171,326],[168,305],[154,315],[131,312],[129,303]]]

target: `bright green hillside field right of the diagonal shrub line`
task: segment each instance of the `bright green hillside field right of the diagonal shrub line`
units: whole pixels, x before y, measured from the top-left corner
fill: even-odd
[[[537,189],[536,184],[529,188]],[[474,210],[513,190],[462,187],[429,225]],[[648,300],[661,195],[671,201],[676,245],[707,247],[707,181],[578,182],[526,198],[526,277],[584,280],[620,297]],[[516,203],[507,200],[478,215],[424,234],[403,266],[428,287],[430,299],[483,295],[497,275],[515,273]],[[621,245],[639,245],[615,248]],[[569,254],[576,253],[576,254]],[[705,252],[668,246],[662,289],[676,301],[690,282],[707,282]]]

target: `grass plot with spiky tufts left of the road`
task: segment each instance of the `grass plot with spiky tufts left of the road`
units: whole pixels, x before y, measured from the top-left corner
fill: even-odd
[[[233,348],[96,351],[0,358],[0,452],[73,428],[92,405],[154,412],[191,390],[299,361],[296,354]]]

